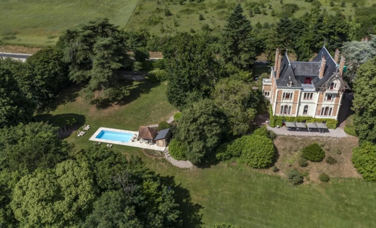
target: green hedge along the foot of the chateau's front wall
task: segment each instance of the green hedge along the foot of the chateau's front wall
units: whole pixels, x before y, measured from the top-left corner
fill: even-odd
[[[318,123],[323,123],[326,122],[326,126],[329,129],[336,129],[338,121],[334,119],[329,119],[329,118],[313,118],[309,116],[298,116],[298,117],[293,117],[293,116],[276,116],[273,115],[273,110],[270,106],[270,122],[269,126],[275,127],[275,126],[282,126],[283,120],[286,120],[287,122],[303,122],[305,121],[306,123],[313,123],[313,122],[318,122]]]

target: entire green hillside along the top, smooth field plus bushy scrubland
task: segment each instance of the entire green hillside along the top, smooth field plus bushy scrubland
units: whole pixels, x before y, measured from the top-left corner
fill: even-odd
[[[316,0],[317,1],[317,0]],[[318,0],[321,9],[329,13],[343,12],[347,16],[355,13],[354,1],[358,7],[370,6],[373,0],[346,0],[346,6],[341,7],[341,0],[335,0],[330,6],[329,0]],[[56,42],[62,31],[77,26],[83,21],[97,17],[107,17],[111,23],[126,29],[147,27],[152,33],[161,34],[173,31],[201,31],[207,24],[209,28],[218,32],[225,24],[225,20],[237,0],[0,0],[0,40],[3,43],[26,45],[49,45]],[[249,17],[250,6],[262,2],[260,7],[265,14],[253,13],[249,17],[252,24],[273,23],[282,16],[282,7],[288,3],[299,6],[295,17],[303,15],[314,6],[305,0],[241,0],[244,15]],[[165,9],[171,15],[166,16]],[[271,12],[275,10],[276,16]],[[203,20],[199,20],[200,14]]]

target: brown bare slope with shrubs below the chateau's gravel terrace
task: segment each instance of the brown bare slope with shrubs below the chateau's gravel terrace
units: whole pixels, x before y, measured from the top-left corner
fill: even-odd
[[[337,160],[337,163],[330,165],[325,162],[309,162],[307,167],[300,167],[298,159],[301,155],[301,150],[307,145],[317,142],[325,151],[325,156],[332,156]],[[288,136],[279,135],[274,140],[278,151],[277,162],[275,166],[280,170],[273,172],[272,168],[262,170],[268,174],[277,174],[287,176],[290,169],[296,168],[303,173],[308,171],[305,177],[305,183],[310,181],[319,181],[318,175],[321,172],[326,172],[329,177],[358,177],[361,175],[356,171],[351,161],[352,148],[358,146],[358,138],[349,136],[346,138],[333,138],[322,136]],[[340,152],[339,152],[340,151]],[[339,154],[340,153],[340,154]]]

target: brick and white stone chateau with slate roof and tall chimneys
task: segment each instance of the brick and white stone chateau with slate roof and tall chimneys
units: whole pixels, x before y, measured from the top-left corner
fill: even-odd
[[[344,82],[345,58],[329,54],[325,46],[312,62],[290,61],[276,50],[270,78],[262,81],[262,92],[270,100],[273,115],[338,118],[343,92],[349,89]]]

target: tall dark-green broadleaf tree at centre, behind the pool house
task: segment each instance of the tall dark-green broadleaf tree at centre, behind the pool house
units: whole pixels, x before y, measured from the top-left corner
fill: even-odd
[[[164,47],[167,71],[167,100],[182,109],[190,93],[208,97],[218,78],[220,66],[208,46],[206,35],[179,33]]]

